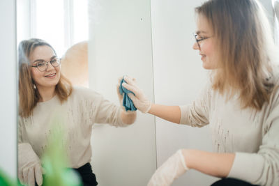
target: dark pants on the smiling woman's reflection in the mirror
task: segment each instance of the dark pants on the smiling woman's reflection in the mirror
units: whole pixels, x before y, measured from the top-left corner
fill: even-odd
[[[84,186],[96,186],[98,185],[96,176],[92,172],[91,164],[86,163],[83,166],[81,166],[78,169],[73,169],[77,171],[77,173],[80,175],[80,178],[82,178],[82,183]]]

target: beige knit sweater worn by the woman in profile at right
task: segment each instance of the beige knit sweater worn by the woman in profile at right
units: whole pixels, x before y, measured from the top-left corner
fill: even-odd
[[[228,177],[255,185],[279,185],[279,90],[261,111],[241,109],[237,96],[229,101],[206,86],[199,99],[181,106],[182,124],[210,125],[213,150],[236,153]]]

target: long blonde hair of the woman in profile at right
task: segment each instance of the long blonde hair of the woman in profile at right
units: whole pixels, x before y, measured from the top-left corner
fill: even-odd
[[[257,0],[211,0],[197,7],[212,26],[218,51],[213,89],[227,99],[239,93],[243,109],[262,109],[275,84],[273,35]]]

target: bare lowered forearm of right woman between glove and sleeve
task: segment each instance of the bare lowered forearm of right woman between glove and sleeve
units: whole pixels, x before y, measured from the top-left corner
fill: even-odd
[[[183,149],[182,152],[189,169],[220,178],[228,176],[235,157],[234,153],[210,153],[192,149]]]

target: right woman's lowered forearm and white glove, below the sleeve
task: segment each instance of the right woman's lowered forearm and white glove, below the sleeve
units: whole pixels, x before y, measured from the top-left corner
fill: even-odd
[[[167,159],[153,174],[148,186],[171,185],[188,169],[220,178],[229,174],[234,154],[209,153],[202,150],[180,149]]]

